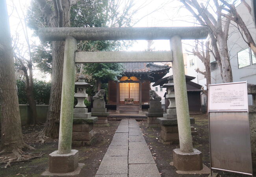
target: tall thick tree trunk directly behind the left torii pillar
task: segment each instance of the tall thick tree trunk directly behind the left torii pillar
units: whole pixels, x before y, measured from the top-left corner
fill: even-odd
[[[37,1],[42,13],[44,13],[45,21],[49,22],[50,27],[70,27],[70,4],[68,0],[61,1],[62,12],[52,12],[53,17],[49,17],[47,13],[51,12],[50,8],[45,8],[45,4],[40,4]],[[46,11],[48,10],[48,11]],[[63,13],[59,15],[59,13]],[[62,19],[61,19],[61,18]],[[59,136],[59,118],[61,107],[61,87],[63,75],[63,60],[64,60],[64,41],[52,41],[52,87],[50,93],[49,110],[43,130],[39,133],[39,137],[58,138]]]

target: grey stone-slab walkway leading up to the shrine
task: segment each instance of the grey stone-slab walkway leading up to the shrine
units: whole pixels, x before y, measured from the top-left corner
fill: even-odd
[[[156,163],[135,120],[124,119],[95,177],[160,177]]]

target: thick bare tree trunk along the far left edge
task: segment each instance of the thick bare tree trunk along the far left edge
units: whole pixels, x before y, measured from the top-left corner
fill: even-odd
[[[0,32],[0,99],[2,107],[2,144],[3,151],[22,152],[25,146],[20,123],[19,101],[14,69],[13,50],[6,1],[0,1],[2,25]]]

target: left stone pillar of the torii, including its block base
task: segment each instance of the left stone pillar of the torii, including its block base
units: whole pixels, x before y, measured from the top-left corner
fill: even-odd
[[[78,167],[78,151],[71,149],[73,105],[74,105],[74,80],[76,65],[74,62],[77,48],[76,39],[65,39],[61,111],[59,122],[59,148],[49,155],[50,173],[68,173]]]

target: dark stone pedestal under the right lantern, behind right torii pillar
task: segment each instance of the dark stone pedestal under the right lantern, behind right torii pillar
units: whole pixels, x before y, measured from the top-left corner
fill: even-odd
[[[158,122],[161,125],[160,141],[164,145],[178,144],[178,121],[177,119],[158,118]],[[195,119],[190,118],[190,124],[195,124]],[[191,127],[191,130],[195,129]]]

